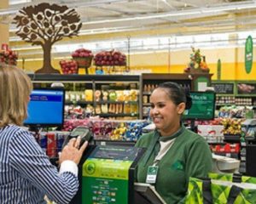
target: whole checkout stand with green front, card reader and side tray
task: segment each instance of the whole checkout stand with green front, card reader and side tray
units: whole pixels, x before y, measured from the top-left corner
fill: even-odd
[[[96,145],[89,127],[76,127],[67,136],[62,148],[70,139],[81,137],[81,144],[89,141],[79,162],[79,191],[70,204],[122,203],[163,204],[165,201],[150,184],[134,182],[137,161],[145,149],[133,146]]]

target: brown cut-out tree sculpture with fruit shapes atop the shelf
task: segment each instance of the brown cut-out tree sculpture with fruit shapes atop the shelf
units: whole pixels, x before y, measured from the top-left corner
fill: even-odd
[[[79,14],[67,6],[40,3],[20,9],[15,16],[16,34],[32,45],[41,45],[44,51],[43,68],[37,73],[59,73],[51,65],[50,51],[63,37],[77,36],[82,26]]]

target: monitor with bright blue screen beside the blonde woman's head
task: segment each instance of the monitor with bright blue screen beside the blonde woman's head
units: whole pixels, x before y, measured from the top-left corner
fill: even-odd
[[[61,126],[64,118],[65,91],[34,89],[27,107],[24,125]]]

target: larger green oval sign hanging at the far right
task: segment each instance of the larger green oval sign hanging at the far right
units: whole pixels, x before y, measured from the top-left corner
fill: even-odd
[[[253,66],[253,38],[251,36],[247,37],[244,61],[247,74],[249,74]]]

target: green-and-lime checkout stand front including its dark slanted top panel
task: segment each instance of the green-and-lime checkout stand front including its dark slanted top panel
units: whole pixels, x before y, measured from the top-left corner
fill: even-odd
[[[82,203],[131,203],[129,170],[138,154],[135,147],[97,146],[83,164]]]

